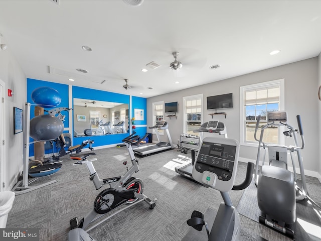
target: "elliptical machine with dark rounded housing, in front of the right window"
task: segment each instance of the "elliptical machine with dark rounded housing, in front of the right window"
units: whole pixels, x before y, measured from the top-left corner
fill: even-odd
[[[294,232],[286,227],[286,224],[293,224],[296,219],[296,201],[303,200],[307,195],[303,161],[300,150],[304,148],[304,136],[300,115],[296,115],[299,134],[301,136],[301,146],[297,141],[298,130],[287,124],[287,112],[273,111],[267,113],[267,124],[261,127],[260,139],[256,137],[261,116],[256,122],[254,138],[259,142],[257,159],[255,165],[254,182],[257,186],[257,202],[260,210],[265,216],[259,216],[259,222],[263,223],[285,235],[293,238]],[[281,146],[266,144],[263,142],[264,130],[271,127],[287,128],[283,135],[287,138],[293,137],[294,146]],[[261,171],[259,172],[259,161],[261,149],[264,149]],[[268,150],[268,165],[264,165]],[[295,172],[293,153],[297,154],[299,170],[301,174],[301,187],[298,186]],[[290,153],[293,173],[287,170],[288,153]]]

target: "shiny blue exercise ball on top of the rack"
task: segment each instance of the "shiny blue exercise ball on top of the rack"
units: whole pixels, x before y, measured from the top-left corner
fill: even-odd
[[[59,92],[50,87],[39,87],[31,93],[32,100],[43,108],[57,107],[61,102]]]

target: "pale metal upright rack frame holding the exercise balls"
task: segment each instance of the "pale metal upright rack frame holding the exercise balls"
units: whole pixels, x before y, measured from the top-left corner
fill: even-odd
[[[23,169],[23,174],[22,174],[22,180],[19,180],[18,183],[12,189],[12,191],[15,192],[16,195],[24,194],[24,193],[27,193],[27,192],[30,192],[30,191],[36,190],[38,188],[42,188],[42,187],[45,187],[45,186],[48,186],[50,184],[57,182],[57,180],[52,180],[52,181],[42,183],[39,185],[29,186],[30,183],[32,183],[32,182],[36,181],[38,178],[40,178],[40,177],[36,177],[33,180],[31,180],[30,182],[28,181],[28,178],[29,178],[29,146],[30,146],[30,144],[34,144],[37,142],[52,140],[52,139],[50,139],[50,140],[39,140],[39,141],[29,142],[29,139],[30,139],[30,106],[31,106],[30,103],[28,103],[28,102],[25,103],[25,114],[24,114],[24,128],[25,128],[25,130],[23,131],[23,134],[24,134],[23,135],[23,138],[24,138],[24,152],[23,152],[24,169]],[[55,107],[55,106],[53,106],[53,107]]]

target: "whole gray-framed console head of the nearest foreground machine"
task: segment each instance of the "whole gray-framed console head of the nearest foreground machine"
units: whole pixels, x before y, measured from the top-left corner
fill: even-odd
[[[193,178],[219,191],[230,191],[234,185],[239,147],[233,139],[206,137],[194,163]]]

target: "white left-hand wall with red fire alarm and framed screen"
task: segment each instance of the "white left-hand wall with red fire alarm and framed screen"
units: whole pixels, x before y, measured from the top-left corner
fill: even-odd
[[[4,40],[3,37],[2,40]],[[23,165],[23,133],[13,134],[14,106],[24,109],[27,99],[26,76],[11,52],[10,45],[6,51],[0,51],[0,79],[5,82],[5,115],[0,117],[1,121],[6,123],[4,133],[6,158],[1,160],[4,161],[5,187],[3,190],[8,191],[17,183]],[[13,90],[12,97],[8,96],[8,89]]]

